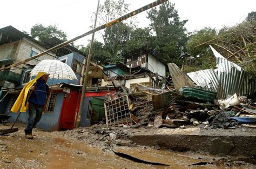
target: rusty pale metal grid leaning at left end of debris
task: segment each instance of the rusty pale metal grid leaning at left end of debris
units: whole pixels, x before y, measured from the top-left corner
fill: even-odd
[[[107,126],[132,124],[129,97],[123,96],[104,103]]]

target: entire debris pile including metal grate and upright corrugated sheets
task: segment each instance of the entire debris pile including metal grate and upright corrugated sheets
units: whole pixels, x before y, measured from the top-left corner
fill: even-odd
[[[162,80],[161,87],[137,83],[129,90],[122,86],[123,92],[116,93],[114,99],[105,102],[107,126],[124,124],[132,127],[176,128],[199,125],[205,129],[238,125],[256,127],[241,125],[256,123],[256,102],[240,96],[247,93],[251,97],[255,89],[244,92],[242,85],[246,87],[247,84],[240,82],[246,79],[244,70],[212,50],[217,58],[218,70],[212,70],[214,73],[205,81],[199,79],[200,72],[188,73],[191,80],[176,64],[169,63],[172,78],[166,78],[170,81],[167,83]],[[221,64],[223,62],[228,67],[224,67],[226,65]],[[234,77],[233,71],[240,72],[241,79]],[[232,83],[234,89],[230,86]],[[231,93],[233,96],[230,96]]]

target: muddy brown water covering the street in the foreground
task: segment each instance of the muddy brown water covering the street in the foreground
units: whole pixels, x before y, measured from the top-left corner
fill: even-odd
[[[104,153],[97,147],[78,143],[52,134],[36,131],[33,140],[24,138],[23,131],[12,137],[0,136],[0,142],[6,145],[7,151],[1,150],[0,168],[35,167],[35,168],[225,168],[224,166],[205,165],[189,166],[200,161],[211,162],[214,157],[200,156],[192,153],[154,150],[151,148],[117,147],[114,150],[130,154],[154,163],[170,166],[149,165],[137,163],[117,156],[114,153]],[[233,167],[233,168],[243,168]]]

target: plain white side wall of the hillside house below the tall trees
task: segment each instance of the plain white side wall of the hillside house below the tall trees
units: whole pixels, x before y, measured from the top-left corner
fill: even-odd
[[[165,77],[165,65],[158,61],[155,57],[149,54],[148,62],[149,65],[147,69],[153,73],[158,73],[158,75]]]

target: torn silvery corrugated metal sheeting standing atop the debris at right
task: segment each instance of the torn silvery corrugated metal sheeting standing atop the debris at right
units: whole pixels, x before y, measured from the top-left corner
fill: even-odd
[[[190,72],[187,75],[204,89],[217,91],[219,98],[226,98],[234,93],[242,96],[253,96],[256,91],[255,80],[248,78],[240,66],[228,61],[212,46],[210,48],[216,57],[216,66],[218,68]]]

